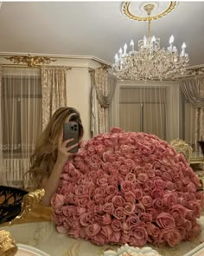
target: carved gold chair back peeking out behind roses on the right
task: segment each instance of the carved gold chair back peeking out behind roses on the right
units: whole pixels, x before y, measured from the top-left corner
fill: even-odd
[[[182,141],[180,139],[175,139],[174,141],[171,141],[170,144],[173,148],[175,148],[176,152],[182,153],[185,156],[186,161],[188,161],[189,164],[193,148],[191,148],[186,141]]]

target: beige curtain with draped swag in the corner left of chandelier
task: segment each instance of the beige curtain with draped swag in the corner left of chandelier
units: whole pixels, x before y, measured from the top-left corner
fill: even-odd
[[[92,136],[109,131],[109,107],[116,87],[116,78],[105,69],[92,72]]]

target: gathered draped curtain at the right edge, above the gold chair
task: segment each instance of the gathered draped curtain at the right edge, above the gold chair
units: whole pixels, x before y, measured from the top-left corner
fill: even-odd
[[[196,144],[204,140],[204,77],[184,79],[180,84],[185,99],[195,108],[194,120],[191,122],[195,122],[192,132],[195,132]]]

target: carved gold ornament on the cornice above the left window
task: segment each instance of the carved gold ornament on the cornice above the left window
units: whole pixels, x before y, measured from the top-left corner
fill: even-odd
[[[50,62],[56,62],[56,60],[51,59],[48,56],[10,56],[5,57],[5,59],[10,60],[14,63],[24,63],[29,67],[41,66],[42,64],[49,64]]]

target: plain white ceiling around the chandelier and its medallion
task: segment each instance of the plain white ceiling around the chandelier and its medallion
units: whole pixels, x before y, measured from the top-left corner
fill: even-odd
[[[0,53],[95,56],[112,63],[116,51],[142,39],[147,23],[128,19],[122,2],[3,2]],[[204,2],[180,2],[168,16],[152,22],[161,46],[187,44],[190,65],[204,64]]]

